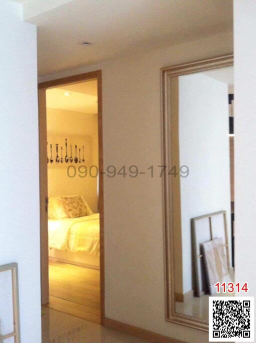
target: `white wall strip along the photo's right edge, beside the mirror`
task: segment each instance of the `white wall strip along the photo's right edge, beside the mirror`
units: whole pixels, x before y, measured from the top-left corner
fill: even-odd
[[[248,282],[251,296],[256,289],[255,18],[256,1],[234,0],[235,278]]]

